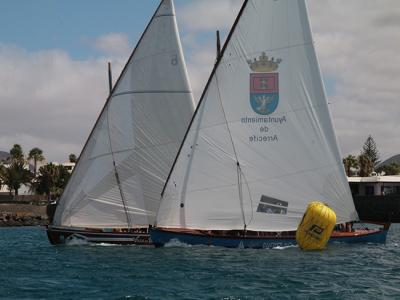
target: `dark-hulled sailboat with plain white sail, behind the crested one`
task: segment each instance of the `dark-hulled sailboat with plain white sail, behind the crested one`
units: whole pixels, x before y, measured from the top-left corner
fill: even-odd
[[[194,112],[172,0],[162,0],[82,150],[47,234],[150,244],[160,193]]]

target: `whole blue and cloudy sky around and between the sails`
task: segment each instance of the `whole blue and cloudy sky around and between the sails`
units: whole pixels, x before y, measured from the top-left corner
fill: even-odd
[[[0,150],[47,161],[79,154],[158,0],[0,0]],[[175,0],[197,101],[242,0]],[[368,135],[400,153],[400,1],[308,0],[313,39],[342,155]]]

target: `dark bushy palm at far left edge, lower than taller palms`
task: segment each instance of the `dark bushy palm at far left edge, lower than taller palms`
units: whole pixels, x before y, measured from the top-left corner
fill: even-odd
[[[8,168],[3,168],[1,172],[1,181],[8,186],[10,192],[14,190],[15,195],[18,195],[18,190],[23,184],[30,184],[32,175],[25,169],[23,161],[14,160]]]

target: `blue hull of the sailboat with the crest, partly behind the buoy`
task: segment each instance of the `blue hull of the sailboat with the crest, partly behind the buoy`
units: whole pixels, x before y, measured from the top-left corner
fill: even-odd
[[[386,229],[360,230],[348,233],[334,232],[329,239],[329,243],[385,243],[386,235]],[[150,230],[150,236],[156,247],[162,247],[171,242],[227,248],[276,248],[297,245],[295,235],[287,237],[233,237],[177,232],[154,228]]]

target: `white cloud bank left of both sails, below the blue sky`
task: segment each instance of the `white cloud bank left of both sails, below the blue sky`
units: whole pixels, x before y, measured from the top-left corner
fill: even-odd
[[[39,147],[57,161],[79,154],[107,97],[109,60],[0,44],[0,149]],[[111,61],[118,74],[122,60]]]

